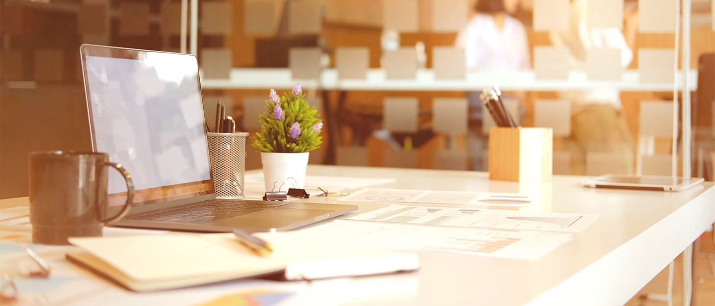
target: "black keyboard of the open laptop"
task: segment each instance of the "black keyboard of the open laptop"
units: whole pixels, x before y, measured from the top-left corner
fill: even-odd
[[[182,206],[156,213],[129,216],[127,220],[148,220],[175,223],[212,223],[216,220],[232,218],[256,211],[288,205],[288,202],[252,201],[252,200],[211,200],[196,205]]]

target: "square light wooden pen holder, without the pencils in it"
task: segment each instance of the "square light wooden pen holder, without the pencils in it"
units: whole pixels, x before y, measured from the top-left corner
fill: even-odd
[[[490,128],[489,179],[550,181],[552,134],[551,128]]]

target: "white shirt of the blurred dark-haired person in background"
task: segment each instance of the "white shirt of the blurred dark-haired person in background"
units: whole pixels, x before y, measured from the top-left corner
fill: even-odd
[[[506,15],[503,29],[492,16],[476,14],[459,32],[457,46],[465,49],[466,66],[479,71],[520,71],[531,68],[523,24]]]

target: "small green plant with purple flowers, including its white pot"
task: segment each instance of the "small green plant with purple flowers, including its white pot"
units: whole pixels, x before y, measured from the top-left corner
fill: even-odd
[[[261,152],[266,191],[279,191],[283,184],[282,191],[303,188],[308,155],[320,148],[322,121],[304,98],[300,83],[282,97],[271,89],[260,115],[261,131],[252,146]]]

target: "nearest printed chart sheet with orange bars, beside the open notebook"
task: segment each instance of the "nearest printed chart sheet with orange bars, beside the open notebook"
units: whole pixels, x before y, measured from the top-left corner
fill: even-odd
[[[345,240],[380,248],[537,260],[571,240],[570,233],[440,228],[434,226],[337,220],[307,230],[325,231]]]

